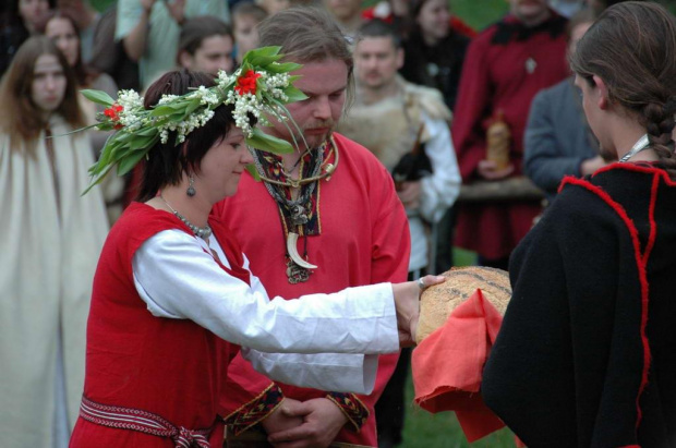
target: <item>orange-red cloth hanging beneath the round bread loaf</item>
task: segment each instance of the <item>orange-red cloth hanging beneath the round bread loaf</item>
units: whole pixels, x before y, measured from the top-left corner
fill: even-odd
[[[480,393],[482,371],[502,323],[503,316],[478,289],[413,350],[415,403],[432,413],[456,411],[470,443],[505,426]]]

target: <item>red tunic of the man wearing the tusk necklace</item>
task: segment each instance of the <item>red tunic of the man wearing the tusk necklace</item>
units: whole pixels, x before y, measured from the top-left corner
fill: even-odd
[[[321,234],[307,237],[307,254],[317,265],[307,282],[290,284],[286,275],[286,241],[276,202],[262,182],[242,177],[239,192],[216,204],[214,213],[232,229],[249,257],[250,268],[270,295],[294,298],[313,292],[382,281],[406,281],[410,252],[408,221],[397,197],[391,175],[363,146],[334,134],[340,160],[330,180],[319,183]],[[302,252],[302,239],[299,251]],[[375,389],[358,396],[371,415],[357,434],[346,425],[338,441],[376,446],[373,407],[391,376],[398,354],[381,355]],[[270,380],[253,371],[241,356],[229,370],[230,380],[222,400],[232,412],[255,399]],[[315,389],[279,385],[285,396],[297,400],[325,397]],[[232,393],[231,393],[232,391]]]

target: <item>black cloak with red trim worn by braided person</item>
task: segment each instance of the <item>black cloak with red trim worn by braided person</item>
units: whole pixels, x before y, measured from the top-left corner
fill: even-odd
[[[562,185],[511,257],[485,402],[529,447],[676,447],[676,183]]]

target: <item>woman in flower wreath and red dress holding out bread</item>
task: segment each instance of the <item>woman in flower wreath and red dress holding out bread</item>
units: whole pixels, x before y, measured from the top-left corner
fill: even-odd
[[[254,128],[256,116],[266,122],[261,112],[283,120],[283,105],[302,97],[287,73],[298,65],[275,62],[277,51],[250,53],[216,85],[201,73],[167,73],[143,107],[133,92],[120,93],[119,104],[86,93],[110,105],[102,128],[122,126],[92,170],[95,182],[112,165],[124,172],[146,162],[140,202],[114,225],[99,258],[71,447],[220,447],[218,399],[228,393],[225,373],[238,346],[285,383],[364,392],[377,356],[337,353],[398,350],[397,323],[408,340],[419,287],[435,277],[269,301],[237,241],[209,216],[237,192],[252,162],[248,145],[289,149]],[[333,353],[269,353],[322,351]]]

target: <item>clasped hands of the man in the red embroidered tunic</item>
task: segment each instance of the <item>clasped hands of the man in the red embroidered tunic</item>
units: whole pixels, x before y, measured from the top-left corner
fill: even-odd
[[[274,434],[268,432],[268,441],[275,448],[326,448],[348,422],[342,411],[327,398],[295,403],[286,407],[282,412],[289,417],[302,417],[303,424]]]

